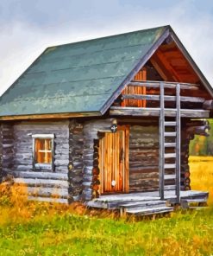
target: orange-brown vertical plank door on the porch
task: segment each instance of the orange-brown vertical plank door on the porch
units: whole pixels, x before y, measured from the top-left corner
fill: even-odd
[[[128,127],[105,132],[99,156],[100,194],[128,192]]]

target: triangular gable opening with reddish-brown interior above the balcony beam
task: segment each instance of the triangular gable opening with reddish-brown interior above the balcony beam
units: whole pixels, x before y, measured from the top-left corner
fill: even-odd
[[[144,86],[140,85],[140,83]],[[160,107],[160,99],[154,97],[160,95],[160,86],[149,86],[152,81],[172,82],[172,84],[185,84],[181,86],[181,108],[202,109],[204,101],[211,99],[197,73],[170,37],[163,42],[154,52],[141,70],[135,74],[134,79],[122,91],[120,99],[114,106],[129,107]],[[133,85],[138,82],[139,86]],[[187,88],[188,86],[188,88]],[[141,95],[141,96],[140,96]],[[174,96],[167,98],[165,107],[175,108],[175,86],[165,86],[165,95]]]

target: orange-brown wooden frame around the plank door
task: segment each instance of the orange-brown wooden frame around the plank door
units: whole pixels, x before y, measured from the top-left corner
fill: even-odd
[[[111,191],[111,192],[103,192],[103,148],[102,148],[102,142],[103,138],[99,139],[99,180],[100,180],[100,187],[99,187],[99,195],[110,195],[110,194],[122,194],[122,193],[128,193],[129,189],[129,166],[128,166],[128,143],[129,143],[129,125],[118,125],[117,126],[117,131],[124,131],[124,145],[125,145],[125,150],[124,150],[124,175],[123,175],[123,189],[122,191]],[[105,133],[111,133],[110,131],[106,131],[103,133],[103,137]]]

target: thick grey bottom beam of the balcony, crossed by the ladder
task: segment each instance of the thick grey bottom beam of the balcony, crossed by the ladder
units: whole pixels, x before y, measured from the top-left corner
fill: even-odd
[[[166,117],[176,117],[176,109],[165,109]],[[183,118],[209,118],[209,110],[200,109],[181,109],[181,117]],[[160,108],[156,107],[122,107],[122,106],[111,106],[111,116],[135,116],[135,117],[159,117]]]

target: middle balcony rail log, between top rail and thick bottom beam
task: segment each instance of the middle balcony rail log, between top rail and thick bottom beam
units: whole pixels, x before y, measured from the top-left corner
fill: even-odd
[[[122,99],[147,99],[147,100],[157,100],[160,101],[160,95],[143,95],[143,94],[122,94]],[[164,96],[165,101],[176,101],[176,96]],[[181,96],[180,101],[182,102],[194,102],[194,103],[204,103],[204,98],[199,97],[185,97]]]

